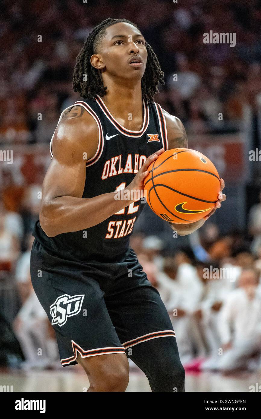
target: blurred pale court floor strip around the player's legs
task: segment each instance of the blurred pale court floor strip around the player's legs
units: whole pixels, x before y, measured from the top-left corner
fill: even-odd
[[[140,370],[131,370],[127,392],[148,392],[146,376]],[[186,373],[186,392],[249,392],[251,385],[261,383],[261,372],[241,372],[224,376],[220,373]],[[80,366],[61,368],[61,370],[23,371],[0,370],[0,385],[13,385],[14,392],[84,392],[89,382]]]

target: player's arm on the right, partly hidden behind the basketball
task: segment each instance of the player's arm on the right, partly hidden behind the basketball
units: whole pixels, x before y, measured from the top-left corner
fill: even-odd
[[[165,116],[167,126],[168,150],[171,150],[173,148],[188,148],[188,137],[181,120],[178,119],[176,116],[170,115],[168,112],[164,110],[163,113]],[[202,227],[204,222],[211,215],[214,214],[216,209],[221,207],[221,202],[225,201],[226,196],[222,193],[224,187],[225,182],[223,179],[220,179],[220,193],[218,195],[218,200],[215,204],[215,207],[208,215],[206,215],[206,217],[202,218],[199,221],[191,222],[189,224],[175,224],[173,222],[169,222],[171,228],[175,230],[178,233],[178,235],[187,235],[193,233],[195,230]]]

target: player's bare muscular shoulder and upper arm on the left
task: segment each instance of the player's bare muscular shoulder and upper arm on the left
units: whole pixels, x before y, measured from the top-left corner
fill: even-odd
[[[43,202],[56,197],[81,198],[85,186],[86,161],[98,147],[98,127],[90,115],[70,118],[58,125],[52,142],[53,158],[43,182]]]

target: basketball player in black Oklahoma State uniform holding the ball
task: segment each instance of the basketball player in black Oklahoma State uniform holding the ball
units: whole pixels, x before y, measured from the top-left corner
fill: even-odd
[[[167,310],[129,247],[144,207],[130,192],[143,191],[164,150],[187,147],[180,120],[153,102],[158,83],[163,72],[137,26],[106,19],[77,57],[73,88],[83,100],[62,113],[50,145],[31,279],[62,366],[82,365],[88,391],[125,391],[127,357],[152,391],[184,391]],[[120,189],[128,200],[115,199]],[[171,228],[186,235],[203,223]]]

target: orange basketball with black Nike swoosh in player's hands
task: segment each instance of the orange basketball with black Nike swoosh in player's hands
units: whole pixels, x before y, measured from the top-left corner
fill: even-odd
[[[147,203],[163,220],[188,224],[214,208],[220,177],[214,164],[199,151],[165,151],[148,170],[144,179]]]

